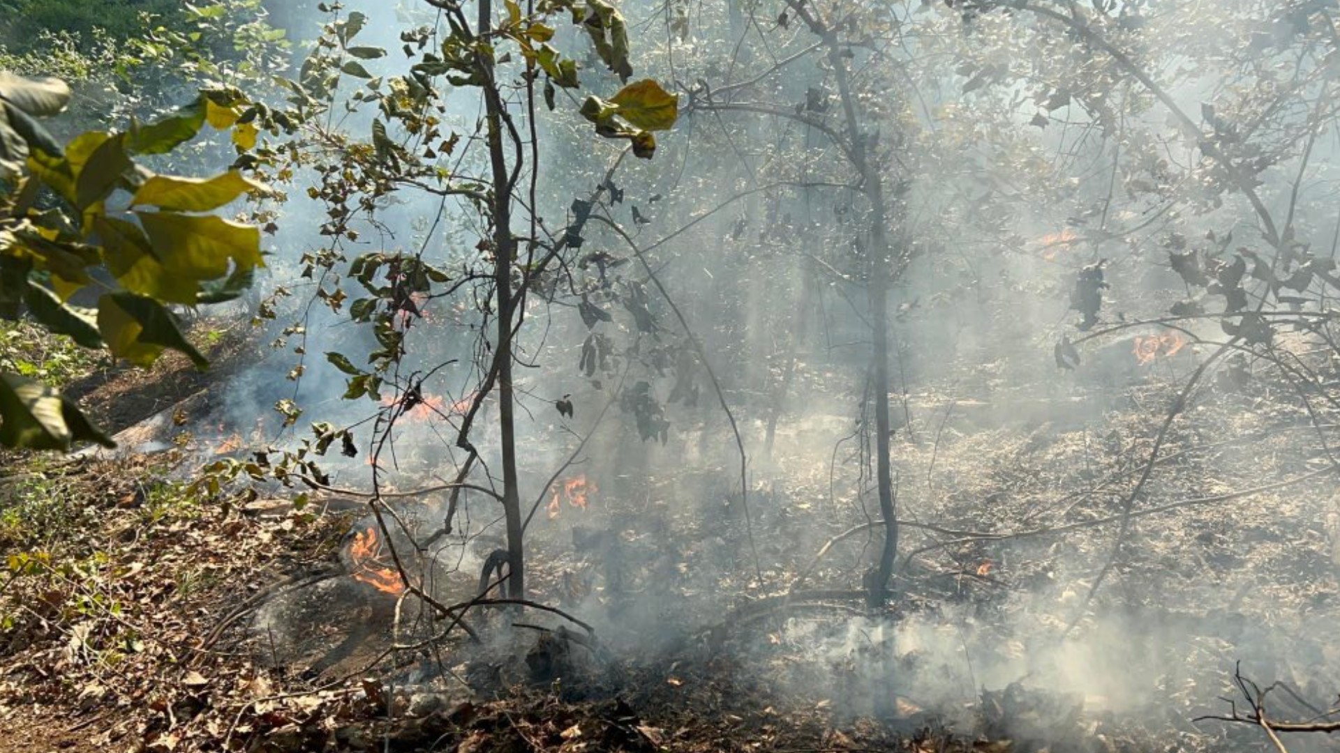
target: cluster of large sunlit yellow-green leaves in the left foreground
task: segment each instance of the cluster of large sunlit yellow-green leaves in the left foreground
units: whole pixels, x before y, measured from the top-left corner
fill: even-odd
[[[62,147],[39,119],[68,100],[59,79],[0,74],[0,170],[11,186],[0,206],[0,315],[27,314],[141,366],[174,348],[204,367],[166,304],[229,300],[249,285],[261,265],[259,230],[209,212],[260,186],[236,172],[161,176],[135,158],[172,151],[206,119],[236,125],[236,106],[225,94],[201,95],[172,117]],[[90,287],[99,289],[95,307],[71,303]],[[111,443],[74,403],[19,374],[0,374],[0,443],[11,448]]]

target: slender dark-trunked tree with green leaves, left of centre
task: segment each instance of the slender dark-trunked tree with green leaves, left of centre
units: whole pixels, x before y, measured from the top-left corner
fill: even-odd
[[[284,82],[291,92],[289,107],[275,111],[276,118],[299,126],[299,138],[283,149],[265,146],[257,155],[260,167],[276,176],[293,176],[308,167],[318,173],[318,185],[308,194],[327,206],[328,221],[320,232],[330,238],[330,245],[306,255],[302,272],[304,277],[320,280],[318,297],[339,314],[350,297],[344,285],[352,283],[360,288],[347,314],[371,326],[378,347],[367,354],[367,367],[358,366],[344,352],[328,352],[327,359],[348,376],[348,399],[382,401],[385,386],[397,393],[374,423],[374,489],[379,489],[383,473],[379,448],[391,441],[395,422],[405,411],[423,403],[423,381],[444,366],[427,364],[410,374],[401,371],[407,358],[426,363],[423,358],[434,352],[413,354],[407,346],[411,330],[419,327],[419,307],[453,295],[468,297],[478,307],[478,323],[472,324],[481,335],[474,364],[478,383],[454,427],[454,445],[465,457],[452,469],[454,480],[448,484],[452,510],[445,528],[452,529],[456,502],[464,489],[496,498],[507,521],[507,591],[512,598],[523,598],[527,510],[521,506],[517,473],[516,342],[527,316],[528,297],[553,276],[553,269],[572,264],[571,255],[582,243],[588,218],[582,210],[586,200],[576,198],[568,225],[553,229],[543,224],[536,206],[541,150],[537,110],[541,105],[555,109],[559,90],[582,86],[578,63],[549,44],[555,29],[547,20],[556,13],[570,13],[592,40],[599,59],[622,82],[632,74],[628,40],[622,15],[602,0],[532,4],[525,11],[511,0],[501,8],[484,1],[474,19],[454,3],[430,0],[427,4],[441,11],[445,25],[406,31],[402,39],[415,62],[407,72],[385,75],[368,70],[382,64],[378,60],[386,55],[385,50],[355,44],[367,16],[360,12],[344,15],[340,7],[330,7],[332,20],[326,24],[315,51],[302,64],[297,78]],[[513,60],[513,55],[519,59]],[[346,94],[344,82],[363,88]],[[478,96],[484,117],[474,133],[444,133],[442,115],[450,103],[446,86],[456,88],[452,96],[464,98],[466,91]],[[375,114],[364,121],[370,138],[354,137],[331,125],[336,103],[347,105],[350,111],[362,103],[375,107]],[[673,126],[677,107],[675,96],[646,79],[627,83],[608,99],[590,95],[579,113],[595,126],[598,135],[626,141],[634,155],[650,158],[657,147],[653,131]],[[452,159],[453,167],[442,165],[445,158]],[[378,251],[347,259],[346,244],[356,243],[364,222],[378,226],[381,200],[393,194],[433,197],[440,213],[446,210],[449,201],[456,202],[453,210],[481,228],[478,237],[468,251],[448,244],[437,247],[434,241],[440,244],[444,238],[430,234],[413,253]],[[519,229],[523,224],[525,230]],[[348,264],[347,276],[344,264]],[[300,324],[291,328],[293,332],[302,330]],[[302,376],[303,368],[295,370],[295,378]],[[498,490],[470,481],[470,474],[481,465],[476,419],[489,399],[497,405]],[[296,406],[285,410],[288,423],[300,415]],[[318,457],[335,439],[340,439],[342,446],[352,446],[347,427],[335,430],[319,423],[315,430],[315,443],[308,442],[287,454],[279,465],[285,478],[300,476],[319,485],[324,474],[316,464]],[[230,469],[232,473],[241,470],[253,476],[261,473],[260,468],[247,465]],[[374,490],[374,510],[381,509],[377,494]],[[426,596],[417,586],[407,586]]]

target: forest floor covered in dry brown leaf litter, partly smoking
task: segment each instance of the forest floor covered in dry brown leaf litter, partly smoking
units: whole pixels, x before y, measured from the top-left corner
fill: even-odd
[[[169,359],[75,391],[115,405],[100,415],[113,430],[176,419],[255,359],[244,338],[210,350],[208,378]],[[817,394],[813,379],[797,389]],[[1277,694],[1280,718],[1335,697],[1325,442],[1276,387],[1226,391],[1166,433],[1142,485],[1174,394],[1150,382],[1083,425],[926,395],[899,437],[907,553],[878,619],[851,591],[868,492],[813,460],[812,423],[779,431],[784,470],[748,517],[726,453],[691,472],[728,478],[720,498],[686,504],[704,486],[665,468],[635,501],[552,513],[531,595],[594,636],[494,608],[472,618],[481,644],[418,642],[441,626],[350,577],[356,500],[202,502],[184,482],[192,437],[9,457],[0,753],[1261,750],[1254,725],[1195,720],[1227,713],[1240,661],[1297,694]],[[444,581],[473,583],[472,547]],[[1294,753],[1324,744],[1289,738]]]

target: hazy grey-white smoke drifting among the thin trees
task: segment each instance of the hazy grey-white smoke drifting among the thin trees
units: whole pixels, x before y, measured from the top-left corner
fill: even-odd
[[[1053,358],[1061,335],[1087,336],[1072,310],[1080,269],[1106,260],[1104,326],[1166,312],[1187,295],[1167,268],[1168,238],[1219,244],[1202,238],[1231,230],[1234,248],[1258,245],[1250,208],[1237,194],[1218,200],[1206,186],[1218,178],[1206,176],[1194,141],[1167,125],[1168,103],[1103,70],[1106,58],[1017,16],[984,15],[965,31],[938,4],[917,8],[888,21],[902,29],[904,54],[862,48],[852,63],[866,76],[862,86],[887,94],[887,102],[867,106],[879,118],[890,182],[907,181],[895,243],[906,264],[891,295],[900,611],[875,620],[785,607],[728,626],[726,646],[753,661],[746,671],[770,678],[779,693],[840,701],[852,714],[907,715],[891,701],[902,698],[907,709],[963,729],[980,722],[984,690],[1024,683],[1075,699],[1091,715],[1211,740],[1218,728],[1187,720],[1223,711],[1218,698],[1233,693],[1240,659],[1262,683],[1284,679],[1324,703],[1340,670],[1327,638],[1337,616],[1337,533],[1321,523],[1336,515],[1333,482],[1317,476],[1253,497],[1146,513],[1312,473],[1329,452],[1328,434],[1306,427],[1308,410],[1268,368],[1257,368],[1260,381],[1249,389],[1213,375],[1171,425],[1148,482],[1139,482],[1178,386],[1214,348],[1155,348],[1142,363],[1138,339],[1170,332],[1150,324],[1080,343],[1072,370]],[[347,3],[348,11],[370,19],[360,42],[393,52],[370,60],[370,72],[394,75],[405,19],[374,3]],[[642,28],[662,11],[639,1],[623,12]],[[807,44],[801,33],[783,29],[789,36],[775,50],[772,36],[737,46],[741,33],[754,32],[725,8],[702,13],[691,35],[671,39],[670,55],[636,35],[638,75],[685,90],[699,78],[721,90],[757,76],[750,96],[737,102],[800,106],[816,123],[836,117],[824,66],[768,72]],[[316,19],[291,23],[299,21],[316,28]],[[436,19],[419,13],[413,21]],[[1143,40],[1132,43],[1139,55],[1167,64],[1178,59],[1158,58],[1168,46],[1194,42],[1185,52],[1191,59],[1250,39],[1249,24],[1233,25],[1241,38],[1209,24],[1186,11],[1127,31]],[[579,58],[586,50],[574,29],[560,29],[555,44]],[[1028,44],[1043,52],[1021,52]],[[736,47],[738,55],[721,59]],[[969,88],[978,75],[1016,83]],[[1087,91],[1053,86],[1085,75]],[[583,92],[612,91],[598,66],[583,76]],[[1254,102],[1225,91],[1213,71],[1171,76],[1168,86],[1179,110],[1199,114],[1209,99],[1215,118]],[[468,88],[448,94],[444,131],[473,133],[478,102]],[[681,102],[687,110],[686,91]],[[602,186],[619,150],[594,135],[570,102],[559,105],[537,123],[533,212],[551,230],[564,225],[574,198]],[[371,109],[342,114],[339,129],[368,133],[373,117]],[[1297,118],[1270,123],[1286,131],[1298,127]],[[521,497],[527,512],[537,509],[527,531],[533,590],[596,626],[626,657],[682,648],[732,610],[792,586],[859,588],[880,544],[875,528],[815,559],[878,517],[862,285],[868,208],[843,150],[817,126],[741,111],[686,113],[659,138],[654,161],[620,165],[612,182],[622,198],[612,201],[615,190],[606,189],[599,209],[651,272],[619,233],[591,222],[574,279],[616,280],[619,301],[598,301],[610,320],[588,323],[580,296],[553,285],[529,299],[517,343]],[[1288,208],[1296,176],[1306,176],[1293,226],[1306,238],[1300,243],[1316,248],[1333,229],[1325,200],[1335,147],[1319,138],[1306,170],[1294,159],[1260,176],[1262,201],[1277,213]],[[1166,184],[1140,184],[1159,176]],[[307,172],[293,185],[315,180]],[[650,221],[634,220],[634,206]],[[292,446],[308,419],[351,427],[358,457],[324,462],[334,485],[367,489],[373,439],[385,429],[375,417],[417,383],[426,410],[397,419],[377,452],[379,482],[406,492],[454,480],[464,458],[456,446],[460,406],[478,387],[492,336],[481,327],[477,293],[466,287],[422,304],[399,379],[385,390],[390,405],[342,401],[347,376],[324,354],[356,360],[375,340],[344,314],[308,305],[319,285],[332,283],[300,277],[303,255],[324,248],[324,212],[292,190],[272,240],[269,284],[293,292],[273,336],[306,351],[302,378],[285,378],[295,359],[277,350],[229,378],[226,419],[252,426],[275,415],[275,402],[295,399],[306,411],[297,426],[285,430],[272,418],[265,438]],[[529,224],[527,212],[517,228]],[[377,222],[360,229],[336,269],[377,251],[460,267],[484,230],[462,204],[413,190],[382,201]],[[618,267],[591,261],[596,252]],[[1187,324],[1185,335],[1217,340],[1223,331],[1211,319]],[[588,358],[599,362],[595,368]],[[1229,370],[1214,374],[1221,371]],[[742,434],[748,496],[712,375]],[[560,401],[571,402],[571,414],[559,410]],[[493,488],[496,414],[484,405],[472,434],[481,462],[469,481]],[[568,492],[578,478],[583,504]],[[557,490],[547,486],[551,480]],[[469,598],[488,553],[504,545],[493,498],[464,494],[449,533],[448,498],[397,501],[410,535],[393,541],[403,551],[433,543],[430,561],[417,567],[433,575],[444,600]],[[1127,500],[1136,513],[1128,525]],[[1104,583],[1089,599],[1100,573]],[[303,619],[276,611],[261,623],[299,635]],[[1059,707],[1057,725],[1069,706]]]

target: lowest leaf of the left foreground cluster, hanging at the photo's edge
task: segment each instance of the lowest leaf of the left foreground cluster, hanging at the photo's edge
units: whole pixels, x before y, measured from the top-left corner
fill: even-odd
[[[68,450],[72,442],[115,448],[52,387],[17,374],[0,372],[0,445],[32,450]]]

